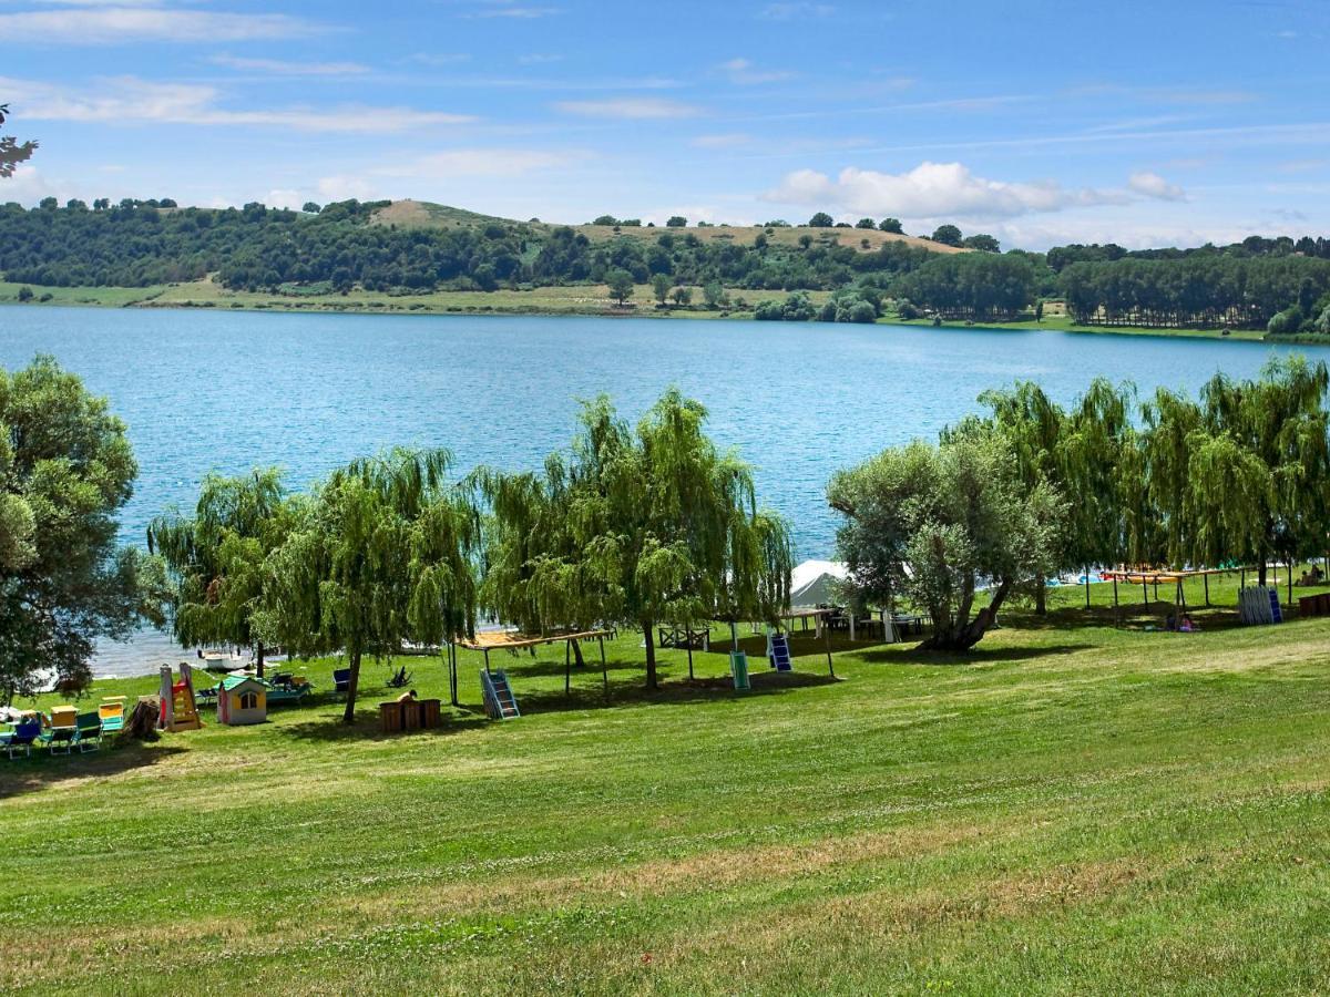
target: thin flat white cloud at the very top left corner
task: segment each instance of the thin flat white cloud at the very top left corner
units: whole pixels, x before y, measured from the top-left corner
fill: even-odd
[[[319,25],[282,13],[177,11],[132,4],[0,13],[0,39],[52,45],[262,41],[303,37],[321,31]]]

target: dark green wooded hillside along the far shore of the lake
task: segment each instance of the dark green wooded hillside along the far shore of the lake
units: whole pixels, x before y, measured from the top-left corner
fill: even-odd
[[[649,284],[661,303],[666,294],[681,300],[686,288],[702,287],[709,307],[725,307],[725,288],[790,292],[754,310],[770,320],[872,322],[890,299],[906,319],[1012,322],[1039,318],[1045,300],[1064,300],[1083,326],[1330,335],[1323,237],[1000,253],[992,237],[962,243],[955,230],[955,245],[970,251],[944,255],[918,239],[845,243],[839,231],[829,234],[822,213],[795,242],[774,238],[783,222],[771,222],[742,243],[673,225],[633,226],[632,234],[614,226],[610,237],[592,238],[571,226],[480,215],[451,227],[379,223],[375,215],[388,203],[344,201],[306,211],[259,203],[182,209],[169,198],[8,203],[0,206],[0,273],[33,287],[148,287],[213,277],[227,290],[293,299],[608,284],[620,288],[622,303],[634,286]],[[807,291],[831,291],[835,300],[813,306]]]

